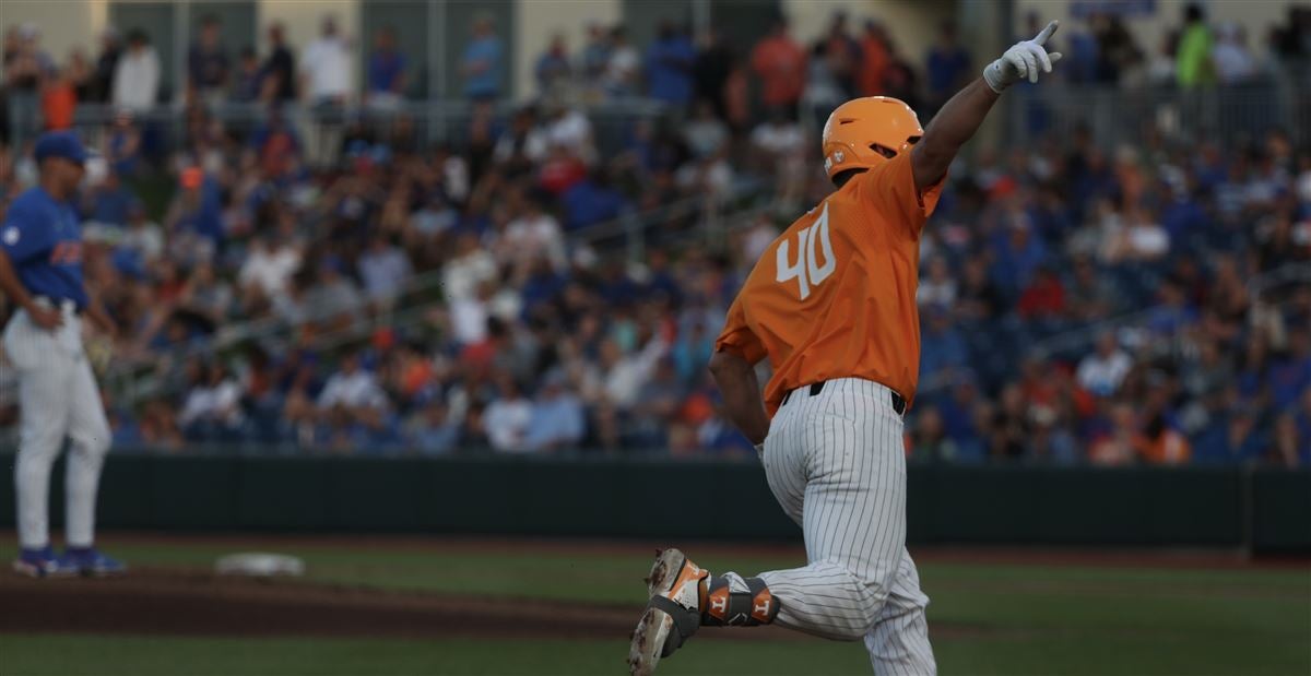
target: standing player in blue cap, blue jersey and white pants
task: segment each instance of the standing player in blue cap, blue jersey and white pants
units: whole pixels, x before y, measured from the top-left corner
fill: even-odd
[[[18,308],[4,330],[4,350],[18,369],[22,415],[13,474],[22,552],[13,567],[31,576],[122,573],[122,563],[94,546],[96,489],[110,431],[83,350],[81,316],[110,335],[114,322],[83,287],[81,228],[71,202],[87,151],[72,134],[50,132],[33,155],[41,185],[14,199],[0,224],[0,292]],[[56,555],[50,546],[50,466],[66,438],[68,548]]]

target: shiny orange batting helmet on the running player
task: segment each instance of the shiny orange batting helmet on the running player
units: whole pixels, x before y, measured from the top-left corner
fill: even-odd
[[[823,126],[823,168],[832,178],[847,169],[869,169],[910,149],[924,128],[905,101],[886,96],[853,98]]]

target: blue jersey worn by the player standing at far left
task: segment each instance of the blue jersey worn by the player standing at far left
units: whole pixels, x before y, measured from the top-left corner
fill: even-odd
[[[9,257],[28,293],[72,300],[87,307],[81,276],[81,225],[72,204],[39,187],[9,204],[0,225],[0,249]]]

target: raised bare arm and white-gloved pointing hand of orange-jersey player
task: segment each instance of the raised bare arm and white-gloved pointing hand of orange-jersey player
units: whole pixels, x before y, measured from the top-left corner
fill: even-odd
[[[1047,54],[1046,42],[1057,31],[1055,21],[1047,24],[1033,39],[1019,42],[1000,59],[988,64],[983,75],[956,93],[924,130],[911,151],[915,169],[915,187],[924,190],[947,176],[961,145],[974,136],[983,118],[1002,92],[1023,79],[1038,81],[1040,72],[1051,72],[1051,64],[1061,60],[1061,52]]]

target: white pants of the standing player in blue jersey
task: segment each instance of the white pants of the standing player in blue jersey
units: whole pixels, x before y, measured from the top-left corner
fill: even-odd
[[[66,540],[92,546],[96,490],[109,451],[110,430],[96,375],[83,352],[81,321],[73,304],[60,307],[64,324],[54,331],[18,310],[4,331],[4,348],[18,369],[18,457],[13,483],[18,507],[18,544],[50,544],[50,466],[68,438]]]

